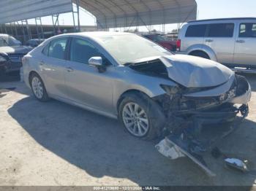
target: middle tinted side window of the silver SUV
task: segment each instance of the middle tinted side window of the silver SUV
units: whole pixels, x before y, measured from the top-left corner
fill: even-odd
[[[218,23],[208,25],[208,37],[233,37],[234,23]]]

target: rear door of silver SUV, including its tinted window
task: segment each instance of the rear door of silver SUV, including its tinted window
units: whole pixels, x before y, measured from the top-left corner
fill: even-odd
[[[235,23],[208,24],[204,44],[214,50],[219,63],[233,63]]]

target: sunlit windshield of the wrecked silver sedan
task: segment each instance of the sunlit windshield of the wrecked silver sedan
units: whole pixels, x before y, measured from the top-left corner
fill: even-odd
[[[163,47],[138,35],[98,36],[97,41],[121,64],[130,63],[141,58],[172,55]]]

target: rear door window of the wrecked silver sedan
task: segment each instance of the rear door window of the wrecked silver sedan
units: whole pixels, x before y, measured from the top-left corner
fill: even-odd
[[[65,51],[67,47],[67,38],[53,39],[50,42],[48,56],[52,58],[65,59]]]

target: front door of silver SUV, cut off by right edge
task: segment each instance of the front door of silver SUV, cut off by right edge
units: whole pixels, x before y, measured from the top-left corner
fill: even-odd
[[[256,22],[239,23],[234,63],[256,67]]]

